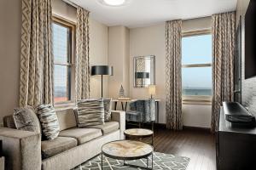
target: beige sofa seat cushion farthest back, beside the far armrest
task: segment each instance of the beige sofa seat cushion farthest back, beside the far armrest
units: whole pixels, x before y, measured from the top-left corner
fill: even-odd
[[[90,128],[98,128],[103,134],[113,133],[119,129],[119,122],[105,122],[103,125],[90,126]]]

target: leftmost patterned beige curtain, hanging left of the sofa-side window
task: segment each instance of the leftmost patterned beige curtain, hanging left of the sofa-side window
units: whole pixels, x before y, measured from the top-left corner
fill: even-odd
[[[51,0],[22,0],[20,106],[53,102]]]

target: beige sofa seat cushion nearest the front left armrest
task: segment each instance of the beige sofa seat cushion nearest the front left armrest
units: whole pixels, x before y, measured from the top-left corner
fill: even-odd
[[[65,150],[69,150],[78,145],[78,141],[68,137],[57,137],[53,140],[42,141],[42,158],[55,156]]]

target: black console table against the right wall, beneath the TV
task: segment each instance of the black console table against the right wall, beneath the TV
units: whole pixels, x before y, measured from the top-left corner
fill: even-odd
[[[255,155],[256,127],[231,127],[222,107],[216,138],[217,169],[256,169]]]

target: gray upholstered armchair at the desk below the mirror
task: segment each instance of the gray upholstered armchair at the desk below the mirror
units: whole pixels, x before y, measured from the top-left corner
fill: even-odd
[[[130,111],[126,111],[126,122],[137,122],[139,127],[143,127],[143,123],[152,123],[154,130],[155,122],[155,100],[140,99],[130,104]]]

